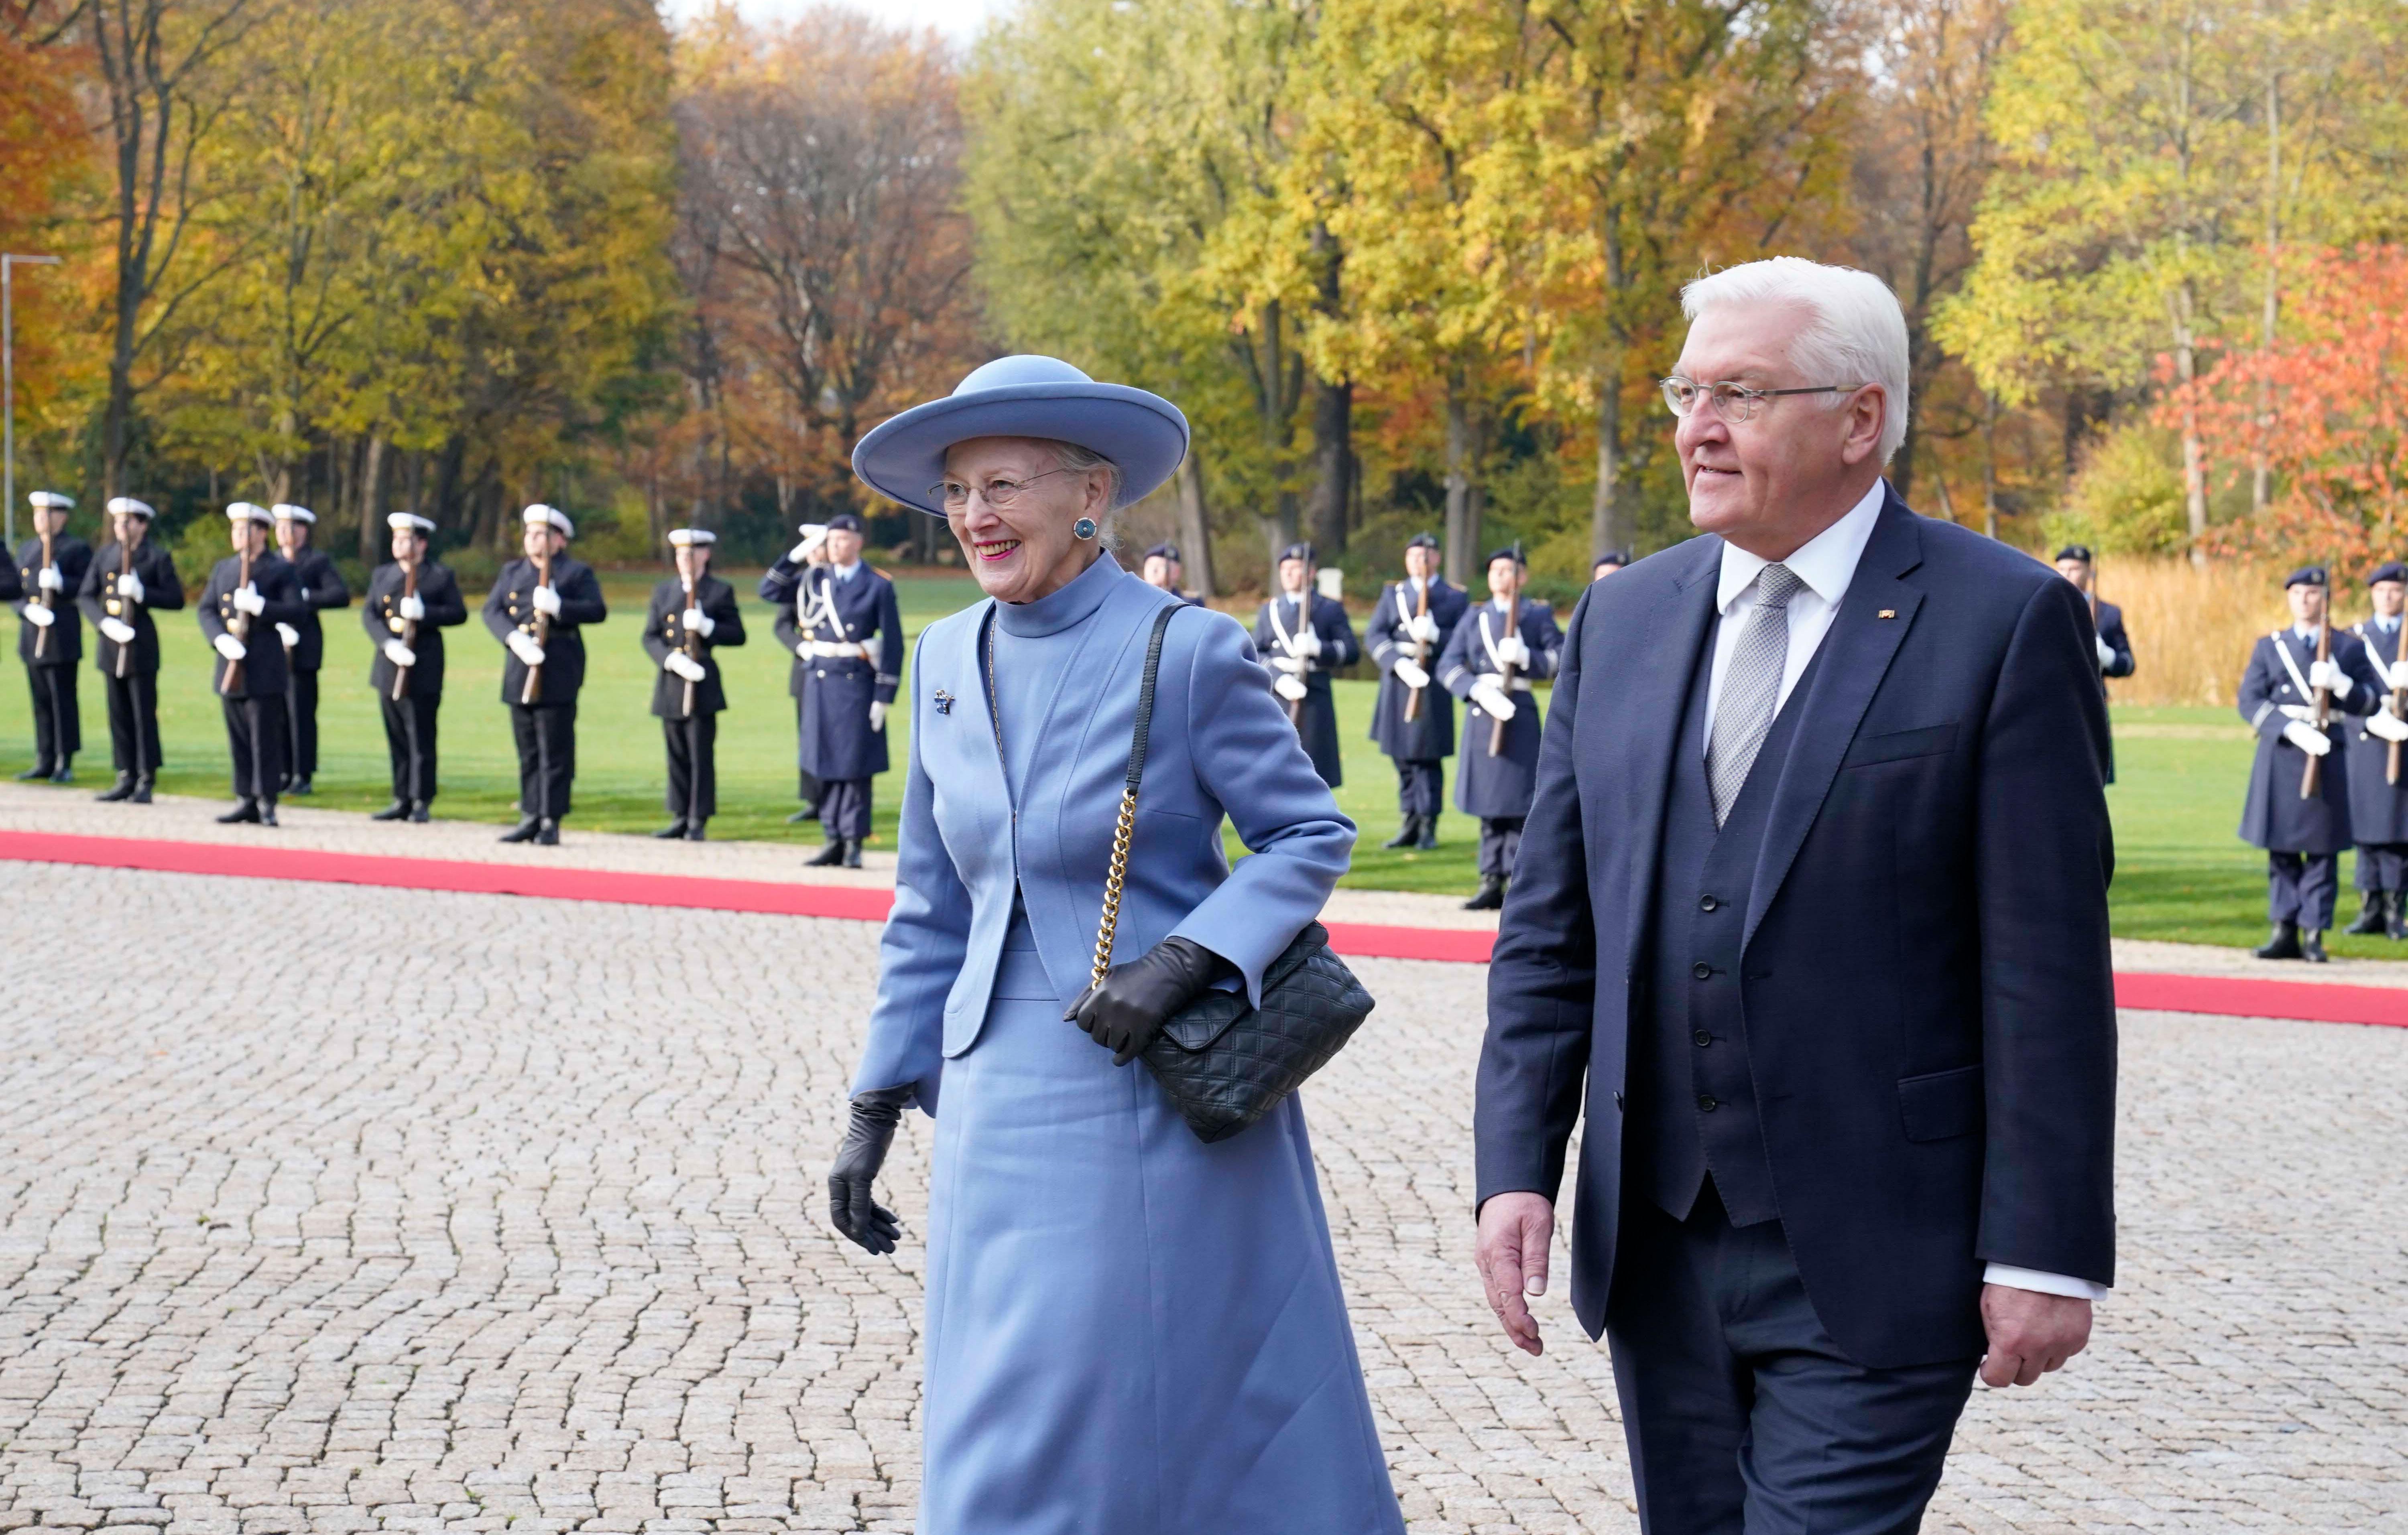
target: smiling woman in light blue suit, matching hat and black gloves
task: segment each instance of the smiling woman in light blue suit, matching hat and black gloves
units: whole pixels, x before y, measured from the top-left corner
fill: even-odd
[[[855,448],[944,515],[987,601],[920,635],[896,905],[828,1174],[934,1114],[922,1535],[1404,1528],[1346,1326],[1303,1104],[1204,1145],[1144,1066],[1161,1023],[1264,967],[1346,869],[1339,816],[1235,618],[1105,549],[1187,450],[1165,399],[1009,356]],[[1163,638],[1115,962],[1088,986],[1153,616]],[[1255,857],[1228,866],[1221,818]]]

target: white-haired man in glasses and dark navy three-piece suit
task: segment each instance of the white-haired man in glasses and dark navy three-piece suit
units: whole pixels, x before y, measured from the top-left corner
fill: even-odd
[[[1666,402],[1705,537],[1587,589],[1488,979],[1479,1268],[1611,1333],[1657,1533],[1912,1530],[1972,1379],[2114,1278],[2107,712],[2081,592],[1881,479],[1864,272],[1702,277]]]

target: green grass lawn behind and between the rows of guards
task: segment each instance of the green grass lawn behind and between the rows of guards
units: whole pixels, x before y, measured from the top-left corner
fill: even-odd
[[[197,589],[207,573],[185,570]],[[751,592],[759,573],[732,573],[737,592]],[[660,724],[650,717],[653,662],[638,642],[638,626],[653,582],[641,575],[607,575],[609,623],[585,635],[588,678],[578,705],[578,787],[571,823],[588,830],[643,832],[667,820],[662,789],[667,765]],[[920,628],[975,599],[968,575],[910,575],[896,582],[903,628]],[[472,597],[474,601],[474,597]],[[785,693],[787,652],[768,633],[771,609],[744,599],[744,626],[754,642],[720,654],[727,678],[727,715],[720,717],[720,813],[715,837],[754,837],[816,847],[816,825],[785,825],[795,808],[795,707]],[[159,787],[171,794],[226,796],[226,734],[217,695],[209,693],[209,650],[190,611],[161,614],[166,686],[161,688],[161,741],[166,770]],[[327,614],[327,669],[318,705],[320,808],[373,811],[388,799],[385,734],[368,691],[368,638],[359,611]],[[87,654],[89,640],[87,633]],[[501,705],[501,645],[477,614],[450,633],[448,688],[443,695],[443,796],[445,818],[508,825],[518,796],[518,758],[510,751],[508,710]],[[22,666],[17,669],[22,678]],[[84,700],[84,755],[77,784],[65,794],[89,794],[108,782],[108,719],[101,681],[79,669]],[[1339,681],[1339,739],[1346,748],[1346,782],[1339,808],[1363,828],[1346,885],[1361,890],[1464,893],[1476,883],[1471,859],[1479,828],[1457,813],[1440,820],[1438,852],[1385,852],[1397,830],[1397,780],[1387,758],[1365,739],[1375,683]],[[893,760],[905,755],[908,710],[889,722]],[[2232,835],[2239,823],[2242,787],[2249,782],[2249,731],[2230,710],[2114,710],[2117,775],[2107,792],[2117,825],[2114,931],[2126,938],[2254,946],[2264,941],[2264,857]],[[31,763],[34,722],[22,681],[0,683],[0,772]],[[1447,792],[1452,794],[1452,772]],[[877,789],[874,847],[893,847],[901,775],[889,772]],[[1238,852],[1235,847],[1230,849]],[[2357,902],[2343,893],[2343,921]],[[2336,938],[2333,953],[2398,955],[2382,938]],[[2408,958],[2408,955],[2401,955]]]

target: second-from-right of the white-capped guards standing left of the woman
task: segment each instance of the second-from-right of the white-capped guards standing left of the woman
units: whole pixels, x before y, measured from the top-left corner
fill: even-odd
[[[602,582],[568,558],[576,524],[568,512],[535,503],[523,515],[525,556],[494,577],[484,626],[508,647],[501,700],[510,705],[518,741],[518,825],[503,842],[556,847],[578,777],[578,688],[585,686],[588,623],[609,618]]]

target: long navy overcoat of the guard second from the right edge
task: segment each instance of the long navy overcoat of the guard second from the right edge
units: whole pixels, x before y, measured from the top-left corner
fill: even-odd
[[[2307,753],[2283,739],[2283,724],[2292,719],[2285,707],[2312,707],[2314,695],[2304,695],[2283,666],[2290,654],[2307,678],[2316,662],[2316,642],[2300,640],[2285,628],[2256,642],[2249,652],[2249,671],[2242,674],[2239,710],[2249,729],[2259,734],[2256,760],[2249,763],[2249,799],[2242,801],[2242,842],[2273,852],[2341,852],[2355,840],[2350,832],[2350,753],[2324,753],[2316,770],[2316,794],[2300,799],[2300,780],[2307,772]],[[2348,630],[2333,630],[2333,662],[2350,674],[2348,698],[2333,695],[2326,739],[2338,748],[2350,734],[2343,715],[2372,715],[2382,698],[2382,678],[2367,666],[2367,647]],[[2054,1270],[2052,1270],[2054,1273]]]

